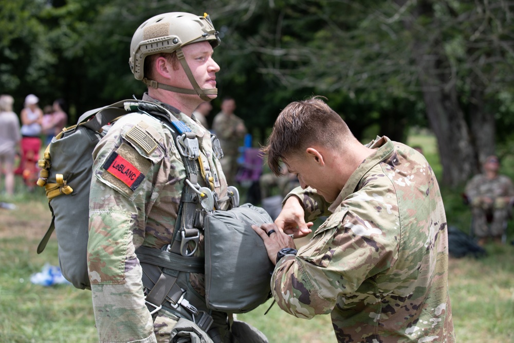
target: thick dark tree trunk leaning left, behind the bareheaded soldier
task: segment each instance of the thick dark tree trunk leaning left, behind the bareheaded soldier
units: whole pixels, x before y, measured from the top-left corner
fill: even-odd
[[[413,15],[415,20],[421,16],[425,22],[428,19],[434,20],[433,2],[419,1]],[[442,184],[455,187],[478,172],[477,154],[471,143],[464,112],[458,102],[456,82],[448,71],[450,68],[444,54],[442,38],[428,39],[428,32],[415,31],[412,22],[406,22],[406,27],[415,37],[413,58],[418,67],[427,117],[437,138],[439,159],[443,167]]]

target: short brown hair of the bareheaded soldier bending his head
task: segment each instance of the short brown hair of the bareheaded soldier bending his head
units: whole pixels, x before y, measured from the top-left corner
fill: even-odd
[[[315,96],[288,104],[279,114],[261,151],[268,157],[271,171],[280,174],[280,161],[297,154],[313,143],[327,148],[342,148],[354,138],[344,120],[323,100]]]

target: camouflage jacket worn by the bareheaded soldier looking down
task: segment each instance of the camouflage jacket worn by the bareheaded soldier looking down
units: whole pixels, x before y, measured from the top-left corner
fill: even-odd
[[[273,297],[299,318],[331,313],[338,342],[454,342],[437,180],[401,143],[377,137],[369,147],[376,153],[333,204],[293,190],[306,220],[331,215],[296,257],[279,261]]]

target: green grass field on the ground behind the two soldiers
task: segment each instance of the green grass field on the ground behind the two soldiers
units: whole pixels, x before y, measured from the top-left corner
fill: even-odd
[[[430,163],[438,166],[433,138],[418,136]],[[508,166],[509,168],[512,165]],[[18,187],[19,189],[21,187]],[[29,279],[45,263],[58,265],[53,235],[43,254],[36,247],[50,221],[42,191],[20,192],[10,199],[14,210],[0,209],[0,342],[96,342],[89,291],[72,286],[40,286]],[[469,210],[458,190],[443,189],[449,225],[467,231]],[[0,195],[0,201],[5,198]],[[508,242],[514,239],[509,223]],[[486,246],[481,259],[450,259],[449,286],[457,340],[465,343],[514,342],[514,246]],[[328,316],[301,320],[282,312],[271,301],[238,315],[263,331],[271,343],[335,342]]]

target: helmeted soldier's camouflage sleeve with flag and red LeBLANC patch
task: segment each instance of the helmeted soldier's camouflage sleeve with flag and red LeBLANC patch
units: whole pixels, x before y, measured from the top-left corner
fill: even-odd
[[[135,249],[145,237],[145,210],[162,187],[158,175],[166,148],[152,127],[131,120],[141,119],[120,119],[93,153],[87,250],[101,342],[156,341]]]

